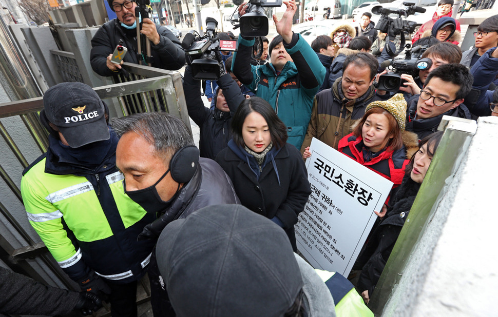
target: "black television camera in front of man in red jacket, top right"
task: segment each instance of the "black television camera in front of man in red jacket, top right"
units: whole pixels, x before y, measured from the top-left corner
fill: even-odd
[[[389,37],[396,37],[396,35],[401,35],[401,45],[398,51],[393,52],[390,45],[386,45],[387,52],[391,57],[395,57],[397,54],[403,50],[405,46],[405,33],[411,34],[415,30],[416,22],[407,21],[403,17],[407,17],[415,12],[424,13],[426,9],[422,7],[415,6],[412,2],[404,2],[404,6],[407,8],[405,10],[391,10],[389,8],[384,8],[382,6],[375,6],[372,8],[372,13],[380,14],[379,21],[375,28],[382,33],[387,33],[386,44],[389,43]],[[398,17],[393,19],[389,17],[389,14],[397,14]]]

